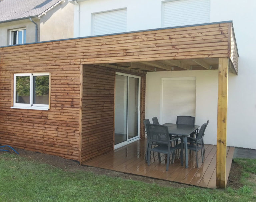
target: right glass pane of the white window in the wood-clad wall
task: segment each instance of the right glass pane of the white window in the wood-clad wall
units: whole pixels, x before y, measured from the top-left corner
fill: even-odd
[[[33,76],[33,104],[49,104],[49,76]]]

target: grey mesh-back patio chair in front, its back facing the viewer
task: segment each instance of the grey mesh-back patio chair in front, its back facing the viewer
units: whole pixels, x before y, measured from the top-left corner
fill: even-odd
[[[172,147],[171,141],[176,140],[170,139],[169,131],[167,126],[158,125],[158,124],[147,124],[148,130],[148,166],[150,165],[150,155],[151,151],[158,153],[158,161],[161,162],[160,153],[167,154],[167,162],[166,162],[166,171],[169,168],[170,156],[172,153],[172,163],[174,161],[174,151],[178,149],[177,146]],[[151,147],[152,144],[158,144],[154,148]]]

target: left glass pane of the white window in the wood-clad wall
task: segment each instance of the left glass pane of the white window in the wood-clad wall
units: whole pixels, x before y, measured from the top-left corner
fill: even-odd
[[[30,76],[16,76],[16,103],[30,103]]]

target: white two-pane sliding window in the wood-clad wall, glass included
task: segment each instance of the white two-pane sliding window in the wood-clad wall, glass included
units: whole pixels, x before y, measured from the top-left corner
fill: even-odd
[[[14,74],[12,108],[49,109],[49,73]]]

